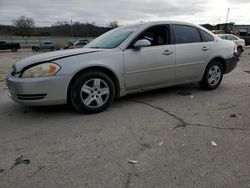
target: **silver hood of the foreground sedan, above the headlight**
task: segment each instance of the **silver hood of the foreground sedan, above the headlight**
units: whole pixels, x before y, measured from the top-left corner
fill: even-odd
[[[16,62],[13,65],[13,69],[15,72],[20,72],[23,68],[30,66],[30,65],[33,65],[33,64],[47,62],[47,61],[53,61],[53,60],[71,57],[71,56],[76,56],[76,55],[95,53],[95,52],[99,52],[99,51],[103,51],[103,50],[104,49],[80,48],[80,49],[61,50],[61,51],[43,53],[43,54],[28,57],[28,58],[25,58],[25,59],[22,59],[22,60]]]

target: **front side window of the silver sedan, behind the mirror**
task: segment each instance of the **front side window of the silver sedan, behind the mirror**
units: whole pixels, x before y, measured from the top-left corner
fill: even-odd
[[[133,48],[133,45],[141,39],[147,39],[151,42],[151,46],[160,46],[170,44],[170,33],[167,25],[154,26],[146,29],[129,45],[129,48]]]

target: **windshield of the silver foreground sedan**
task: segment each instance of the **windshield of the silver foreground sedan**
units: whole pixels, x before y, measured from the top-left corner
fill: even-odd
[[[87,48],[116,48],[133,32],[135,32],[140,25],[133,25],[128,27],[118,27],[90,42],[85,47]]]

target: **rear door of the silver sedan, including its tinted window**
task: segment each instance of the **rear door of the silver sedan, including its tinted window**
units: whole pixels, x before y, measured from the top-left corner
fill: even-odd
[[[202,40],[198,28],[173,25],[176,44],[176,81],[200,78],[210,58],[210,44]]]

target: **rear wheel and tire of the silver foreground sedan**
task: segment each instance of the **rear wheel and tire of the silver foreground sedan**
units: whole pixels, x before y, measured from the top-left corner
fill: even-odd
[[[221,62],[213,60],[208,64],[203,78],[199,82],[200,87],[205,90],[216,89],[222,81],[223,72],[224,70]]]

